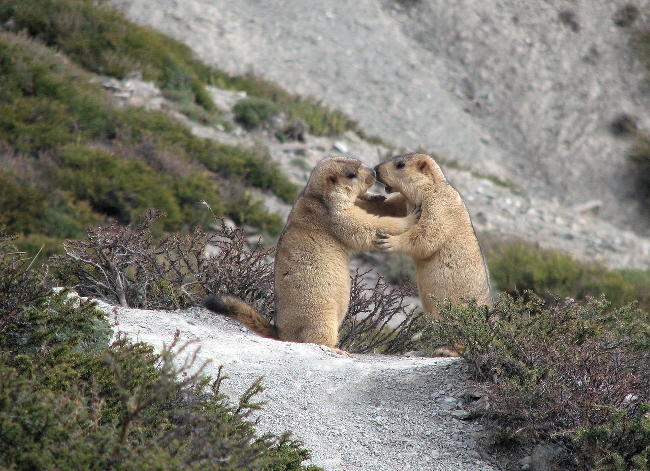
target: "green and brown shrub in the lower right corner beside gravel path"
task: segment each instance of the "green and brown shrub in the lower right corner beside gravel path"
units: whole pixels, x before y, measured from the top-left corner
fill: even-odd
[[[520,439],[564,441],[572,455],[565,469],[647,470],[650,315],[607,308],[593,298],[549,306],[533,293],[502,295],[493,308],[445,304],[422,343],[462,345],[474,377],[487,383],[489,409],[477,412]],[[598,465],[612,457],[623,465]]]

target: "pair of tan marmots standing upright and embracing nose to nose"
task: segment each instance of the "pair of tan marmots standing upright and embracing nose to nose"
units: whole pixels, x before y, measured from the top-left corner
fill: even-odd
[[[399,194],[367,194],[375,176]],[[413,257],[422,306],[432,314],[431,296],[491,303],[463,200],[430,156],[404,154],[374,170],[346,157],[316,165],[276,247],[275,325],[236,296],[208,296],[203,306],[259,335],[344,353],[335,346],[350,301],[350,254],[374,247]]]

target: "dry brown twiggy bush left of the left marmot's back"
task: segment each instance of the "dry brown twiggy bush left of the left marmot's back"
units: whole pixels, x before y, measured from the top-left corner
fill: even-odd
[[[149,211],[135,226],[112,224],[89,230],[86,241],[66,241],[66,255],[52,261],[55,276],[80,295],[123,307],[183,309],[223,292],[272,311],[272,249],[259,241],[248,248],[243,232],[223,219],[216,234],[197,228],[155,243],[151,226],[159,217]]]

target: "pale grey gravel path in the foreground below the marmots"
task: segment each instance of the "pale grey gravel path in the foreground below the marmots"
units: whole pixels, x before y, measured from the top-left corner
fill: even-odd
[[[478,451],[482,427],[463,410],[471,385],[460,359],[355,354],[345,358],[314,344],[257,337],[200,308],[123,309],[99,303],[118,328],[156,348],[198,341],[198,364],[225,365],[224,392],[237,397],[259,376],[268,403],[258,430],[286,429],[328,471],[496,471]]]

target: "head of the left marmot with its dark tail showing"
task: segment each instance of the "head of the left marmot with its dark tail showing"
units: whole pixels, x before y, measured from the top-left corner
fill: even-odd
[[[338,204],[354,204],[374,184],[374,170],[350,157],[327,157],[314,167],[305,193]]]

